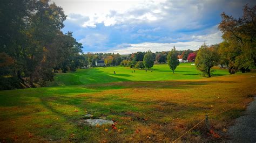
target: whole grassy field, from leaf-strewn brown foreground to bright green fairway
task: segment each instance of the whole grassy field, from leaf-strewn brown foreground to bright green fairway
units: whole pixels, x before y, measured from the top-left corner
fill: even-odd
[[[56,87],[0,91],[0,141],[173,141],[206,114],[232,108],[209,117],[220,139],[207,135],[204,124],[182,138],[220,141],[256,94],[256,73],[217,70],[215,77],[203,78],[189,64],[176,74],[166,65],[154,66],[152,73],[131,71],[80,69],[58,74],[51,83]],[[81,124],[87,113],[117,121],[117,130]]]

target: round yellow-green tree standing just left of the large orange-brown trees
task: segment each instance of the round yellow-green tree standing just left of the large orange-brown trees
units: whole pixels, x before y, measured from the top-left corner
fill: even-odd
[[[219,61],[219,56],[214,48],[208,47],[205,43],[199,48],[197,53],[197,58],[195,65],[203,74],[207,74],[211,77],[211,68],[217,66]]]

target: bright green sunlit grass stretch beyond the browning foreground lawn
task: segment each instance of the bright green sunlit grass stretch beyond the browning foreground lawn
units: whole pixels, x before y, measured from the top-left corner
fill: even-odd
[[[181,63],[174,74],[166,64],[154,65],[152,69],[152,72],[151,70],[146,72],[146,69],[131,69],[129,67],[78,69],[74,73],[56,74],[55,81],[48,85],[63,86],[120,81],[165,81],[204,78],[201,76],[200,71],[194,65],[191,65],[191,63]],[[116,71],[116,75],[113,74],[113,71]],[[215,69],[213,76],[221,75],[228,75],[228,71],[226,69]]]

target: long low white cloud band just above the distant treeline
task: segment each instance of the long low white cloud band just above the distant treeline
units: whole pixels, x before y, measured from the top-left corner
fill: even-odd
[[[216,27],[216,26],[213,26]],[[186,35],[186,37],[181,37],[177,39],[173,38],[165,38],[165,40],[173,40],[176,42],[143,42],[139,44],[120,44],[116,47],[110,49],[106,52],[114,52],[119,54],[130,54],[134,52],[146,52],[147,50],[151,50],[152,52],[160,52],[160,51],[170,51],[175,45],[177,50],[185,50],[192,49],[197,50],[201,45],[206,42],[207,45],[218,44],[222,41],[221,32],[218,30],[214,30],[214,28],[210,28],[207,30],[209,34],[204,35]],[[181,40],[188,40],[181,42]]]

